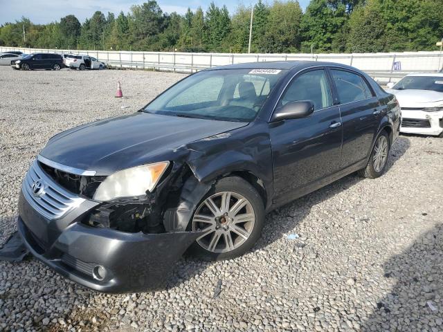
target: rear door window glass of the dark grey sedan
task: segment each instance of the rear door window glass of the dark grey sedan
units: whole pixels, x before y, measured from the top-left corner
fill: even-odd
[[[349,71],[337,71],[334,69],[331,73],[341,104],[367,99],[363,80],[360,75],[350,73]]]

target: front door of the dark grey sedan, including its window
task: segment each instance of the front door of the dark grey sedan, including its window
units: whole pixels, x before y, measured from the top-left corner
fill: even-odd
[[[334,174],[340,166],[340,110],[333,105],[325,69],[316,68],[295,77],[277,107],[296,100],[311,100],[314,113],[269,124],[277,204],[316,189],[322,178]]]

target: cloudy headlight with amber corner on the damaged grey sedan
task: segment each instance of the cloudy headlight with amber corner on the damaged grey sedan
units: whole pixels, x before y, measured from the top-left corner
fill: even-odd
[[[168,168],[169,161],[132,167],[118,171],[103,181],[97,188],[93,199],[110,201],[119,197],[132,197],[150,192]]]

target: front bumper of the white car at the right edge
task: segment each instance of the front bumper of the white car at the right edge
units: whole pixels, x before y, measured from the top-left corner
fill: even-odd
[[[401,110],[402,133],[438,136],[443,132],[443,111]]]

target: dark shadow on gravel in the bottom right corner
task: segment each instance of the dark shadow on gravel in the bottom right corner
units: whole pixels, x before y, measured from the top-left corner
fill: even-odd
[[[361,331],[443,330],[443,225],[436,225],[383,266],[397,280]]]

